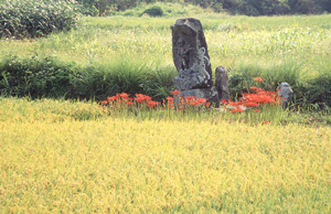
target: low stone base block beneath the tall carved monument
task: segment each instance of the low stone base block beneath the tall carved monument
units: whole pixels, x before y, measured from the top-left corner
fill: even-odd
[[[195,98],[205,98],[206,103],[211,103],[211,105],[215,106],[216,108],[220,107],[220,98],[218,98],[218,93],[216,90],[216,87],[197,88],[197,89],[189,89],[189,90],[180,92],[179,95],[173,97],[174,109],[177,109],[177,105],[180,101],[179,96],[183,98],[191,97],[191,96],[194,96]]]

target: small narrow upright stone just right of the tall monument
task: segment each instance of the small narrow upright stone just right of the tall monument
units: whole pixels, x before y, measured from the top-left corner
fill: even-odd
[[[225,67],[218,66],[215,71],[215,87],[220,99],[229,99],[228,75]]]

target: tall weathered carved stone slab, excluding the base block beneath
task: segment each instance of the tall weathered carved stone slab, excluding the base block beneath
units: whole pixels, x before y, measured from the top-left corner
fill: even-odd
[[[211,88],[212,68],[201,22],[196,19],[179,19],[171,26],[172,55],[178,76],[175,89]]]

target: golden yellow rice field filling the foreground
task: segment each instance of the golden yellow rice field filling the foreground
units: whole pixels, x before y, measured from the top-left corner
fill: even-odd
[[[1,98],[0,139],[0,213],[331,212],[330,127]]]

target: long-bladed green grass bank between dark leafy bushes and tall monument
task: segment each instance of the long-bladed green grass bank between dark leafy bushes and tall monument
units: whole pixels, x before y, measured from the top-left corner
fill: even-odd
[[[126,56],[114,62],[96,64],[82,69],[74,78],[74,97],[106,99],[116,93],[137,93],[161,100],[173,89],[173,67],[157,69],[148,63]]]

